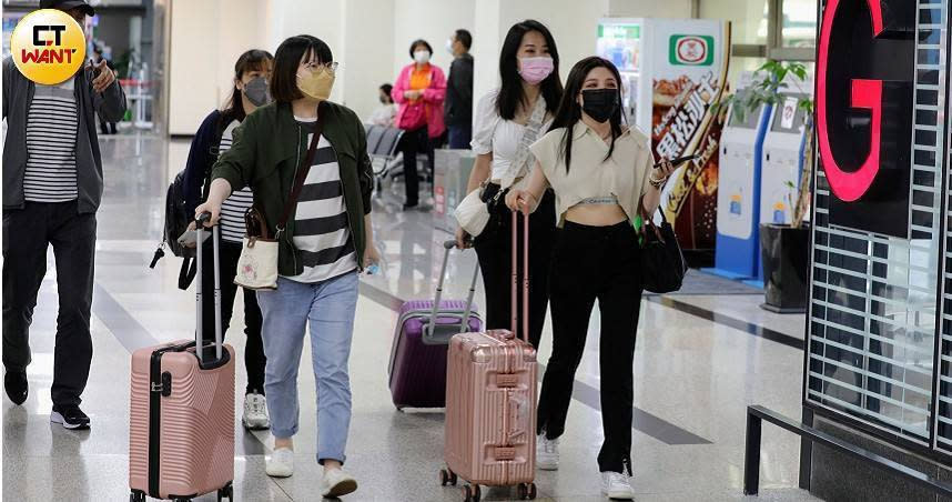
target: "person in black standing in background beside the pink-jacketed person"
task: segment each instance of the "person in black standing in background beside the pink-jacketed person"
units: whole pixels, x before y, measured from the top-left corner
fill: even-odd
[[[455,58],[449,66],[444,107],[446,129],[449,131],[449,148],[469,148],[473,139],[473,36],[466,30],[456,30],[446,41],[446,49]]]

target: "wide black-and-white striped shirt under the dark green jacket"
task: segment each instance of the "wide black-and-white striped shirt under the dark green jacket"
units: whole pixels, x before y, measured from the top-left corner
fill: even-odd
[[[313,121],[297,120],[313,129]],[[308,144],[312,137],[307,134]],[[314,163],[297,200],[294,245],[304,261],[304,273],[287,278],[296,282],[326,281],[357,268],[337,155],[324,137],[317,142]]]

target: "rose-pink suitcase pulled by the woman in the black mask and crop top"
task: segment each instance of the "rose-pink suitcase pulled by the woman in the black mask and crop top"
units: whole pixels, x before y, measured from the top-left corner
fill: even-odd
[[[529,222],[524,221],[523,270],[529,263]],[[516,338],[517,224],[513,213],[513,329],[463,333],[449,342],[446,367],[447,469],[440,483],[462,478],[466,502],[478,502],[479,485],[518,488],[535,499],[536,350],[528,342],[529,279],[523,278],[523,338]]]

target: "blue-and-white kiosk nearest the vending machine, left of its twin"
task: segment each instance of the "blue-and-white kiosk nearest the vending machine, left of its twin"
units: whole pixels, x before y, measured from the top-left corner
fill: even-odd
[[[743,73],[738,90],[750,78]],[[769,104],[728,110],[720,138],[715,267],[706,272],[735,280],[759,274],[761,160],[771,111]]]

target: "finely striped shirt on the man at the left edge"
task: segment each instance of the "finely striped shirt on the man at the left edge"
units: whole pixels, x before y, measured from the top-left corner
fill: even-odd
[[[77,200],[79,116],[73,80],[37,84],[27,112],[27,171],[23,194],[31,202]]]

